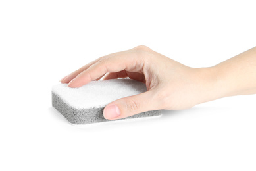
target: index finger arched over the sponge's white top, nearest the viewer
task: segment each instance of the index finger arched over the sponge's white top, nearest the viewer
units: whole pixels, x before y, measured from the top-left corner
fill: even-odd
[[[68,84],[68,87],[81,87],[92,80],[100,78],[107,72],[120,72],[122,70],[142,73],[143,62],[136,57],[136,53],[123,53],[105,57],[92,64],[88,69],[80,72],[80,74]]]

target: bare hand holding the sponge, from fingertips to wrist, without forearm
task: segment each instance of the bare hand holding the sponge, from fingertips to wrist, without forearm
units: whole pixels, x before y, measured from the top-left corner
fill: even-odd
[[[103,80],[129,77],[147,86],[145,93],[109,103],[103,112],[109,120],[149,110],[188,109],[209,99],[214,80],[211,68],[190,68],[148,47],[138,46],[96,59],[61,82],[69,83],[69,87],[81,87],[103,76]]]

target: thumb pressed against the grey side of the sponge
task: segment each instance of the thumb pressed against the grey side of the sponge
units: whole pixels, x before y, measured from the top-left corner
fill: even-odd
[[[113,101],[103,110],[103,116],[107,120],[126,118],[141,112],[156,110],[152,91],[146,91],[138,95],[132,95]]]

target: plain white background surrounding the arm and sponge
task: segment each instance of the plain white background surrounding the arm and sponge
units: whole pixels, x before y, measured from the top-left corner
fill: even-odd
[[[72,126],[51,86],[147,45],[213,66],[256,45],[255,1],[0,1],[0,170],[256,170],[256,95]]]

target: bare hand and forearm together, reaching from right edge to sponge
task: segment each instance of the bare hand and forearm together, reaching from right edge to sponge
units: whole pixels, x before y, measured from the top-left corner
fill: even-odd
[[[103,111],[106,119],[149,110],[183,110],[222,97],[256,93],[256,47],[213,67],[190,68],[141,45],[100,57],[61,83],[81,87],[102,77],[128,77],[147,86],[145,93],[109,103]]]

